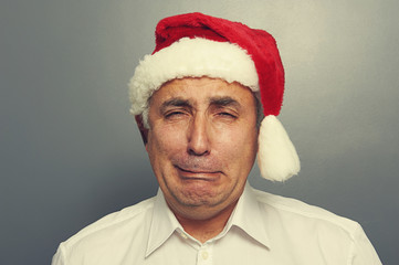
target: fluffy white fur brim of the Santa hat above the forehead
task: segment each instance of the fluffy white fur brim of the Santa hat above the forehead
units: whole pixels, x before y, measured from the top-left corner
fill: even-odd
[[[141,114],[164,83],[201,76],[239,82],[259,91],[256,68],[245,50],[229,42],[183,38],[140,61],[129,83],[130,113]]]

